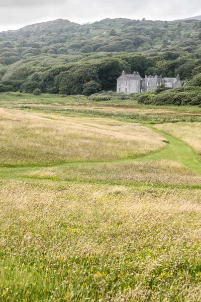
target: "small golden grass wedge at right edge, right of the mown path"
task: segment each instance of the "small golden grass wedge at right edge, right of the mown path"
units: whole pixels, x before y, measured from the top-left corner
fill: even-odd
[[[183,140],[201,155],[201,123],[168,123],[155,127]]]

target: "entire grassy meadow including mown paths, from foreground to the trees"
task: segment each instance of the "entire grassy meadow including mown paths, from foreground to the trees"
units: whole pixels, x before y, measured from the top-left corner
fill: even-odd
[[[84,104],[0,95],[0,301],[200,301],[200,108]]]

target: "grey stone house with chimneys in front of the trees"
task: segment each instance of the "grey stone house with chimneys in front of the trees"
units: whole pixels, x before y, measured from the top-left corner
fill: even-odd
[[[121,77],[117,79],[117,93],[123,92],[129,95],[131,93],[155,91],[162,83],[169,89],[182,86],[179,75],[176,78],[162,78],[161,75],[160,77],[158,75],[147,77],[145,75],[145,79],[143,79],[137,71],[133,74],[126,74],[125,71],[122,71]]]

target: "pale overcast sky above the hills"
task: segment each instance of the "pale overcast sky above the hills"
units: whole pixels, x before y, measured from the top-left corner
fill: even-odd
[[[201,15],[200,0],[0,0],[0,31],[56,19],[176,20]]]

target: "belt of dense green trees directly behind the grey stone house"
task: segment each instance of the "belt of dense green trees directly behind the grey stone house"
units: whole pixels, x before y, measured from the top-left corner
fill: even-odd
[[[154,55],[153,55],[154,54]],[[122,70],[139,71],[189,80],[201,71],[201,58],[178,49],[158,49],[152,53],[105,53],[35,56],[0,67],[0,92],[20,91],[90,95],[116,90]]]

